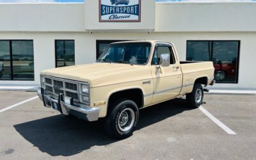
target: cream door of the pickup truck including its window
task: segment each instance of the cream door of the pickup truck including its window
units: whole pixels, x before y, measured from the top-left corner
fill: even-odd
[[[170,66],[160,65],[161,54],[170,54]],[[180,63],[171,44],[156,44],[152,58],[152,77],[154,93],[152,103],[172,99],[179,95],[182,88]]]

